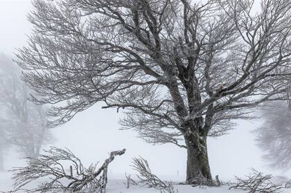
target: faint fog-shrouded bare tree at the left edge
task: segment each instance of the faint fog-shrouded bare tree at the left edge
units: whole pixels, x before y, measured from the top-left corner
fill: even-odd
[[[15,145],[24,156],[34,158],[51,138],[44,109],[28,101],[31,92],[21,81],[21,71],[12,59],[2,55],[0,64],[1,138],[6,144]]]

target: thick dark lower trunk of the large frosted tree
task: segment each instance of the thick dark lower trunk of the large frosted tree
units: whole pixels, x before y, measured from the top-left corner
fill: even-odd
[[[186,183],[212,185],[206,136],[191,132],[184,138],[187,147]]]

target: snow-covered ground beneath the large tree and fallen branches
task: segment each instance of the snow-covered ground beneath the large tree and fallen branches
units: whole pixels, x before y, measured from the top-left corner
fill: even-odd
[[[10,172],[0,172],[0,192],[6,192],[11,190],[13,181],[10,179],[12,174]],[[160,193],[159,190],[154,188],[132,186],[129,189],[123,184],[123,179],[112,179],[107,184],[107,193]],[[33,184],[30,184],[33,187]],[[191,187],[190,185],[175,185],[175,190],[179,193],[235,193],[242,190],[229,190],[229,187]],[[291,189],[283,190],[283,193],[291,193]]]

